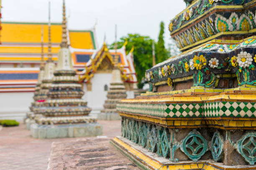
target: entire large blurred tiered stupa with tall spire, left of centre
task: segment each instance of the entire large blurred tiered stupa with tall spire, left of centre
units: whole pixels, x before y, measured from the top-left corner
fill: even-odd
[[[49,81],[44,107],[39,108],[37,112],[42,116],[35,118],[37,124],[31,126],[31,135],[34,138],[101,135],[102,127],[97,124],[97,119],[88,116],[91,109],[87,107],[87,102],[82,100],[84,95],[82,85],[79,84],[76,70],[72,66],[71,52],[67,44],[64,2],[62,24],[61,49],[57,67],[54,70],[54,77]],[[47,67],[45,72],[47,72],[46,69]]]

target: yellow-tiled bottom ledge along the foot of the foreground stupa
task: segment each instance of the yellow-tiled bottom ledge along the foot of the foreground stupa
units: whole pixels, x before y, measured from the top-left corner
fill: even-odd
[[[256,170],[253,165],[225,166],[214,160],[171,162],[121,136],[115,137],[110,143],[142,170]]]

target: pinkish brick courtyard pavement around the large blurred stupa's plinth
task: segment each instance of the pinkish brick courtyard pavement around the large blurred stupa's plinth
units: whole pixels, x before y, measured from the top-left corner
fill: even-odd
[[[103,135],[114,138],[121,133],[121,121],[98,121]],[[0,131],[0,170],[46,170],[51,143],[75,140],[75,138],[33,139],[30,131],[20,123],[18,127]]]

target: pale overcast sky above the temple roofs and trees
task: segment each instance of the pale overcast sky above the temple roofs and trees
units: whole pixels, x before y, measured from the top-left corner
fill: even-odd
[[[62,20],[62,0],[51,1],[51,22]],[[2,0],[2,21],[48,22],[49,0]],[[104,34],[110,44],[127,33],[148,35],[157,40],[160,22],[165,24],[165,40],[169,40],[169,21],[185,8],[183,0],[66,0],[69,29],[87,30],[97,20],[99,46]]]

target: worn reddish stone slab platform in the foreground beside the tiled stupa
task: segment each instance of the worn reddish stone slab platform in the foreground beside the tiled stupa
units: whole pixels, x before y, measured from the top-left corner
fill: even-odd
[[[48,170],[139,170],[110,145],[110,138],[54,142]]]

